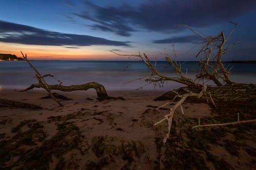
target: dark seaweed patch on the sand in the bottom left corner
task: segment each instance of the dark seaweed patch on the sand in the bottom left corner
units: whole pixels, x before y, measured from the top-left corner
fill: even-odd
[[[12,139],[3,140],[0,143],[0,169],[18,170],[48,170],[52,162],[52,155],[63,160],[62,155],[73,149],[78,149],[81,142],[79,128],[70,123],[59,124],[59,132],[52,138],[46,139],[46,134],[37,122],[30,129],[18,133]],[[33,146],[40,142],[39,146],[24,149],[23,145]],[[58,165],[61,163],[58,162]]]

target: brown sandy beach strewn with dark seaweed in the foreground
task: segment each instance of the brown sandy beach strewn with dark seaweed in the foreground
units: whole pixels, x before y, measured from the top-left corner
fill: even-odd
[[[183,103],[166,144],[167,121],[176,102],[154,101],[164,91],[108,91],[117,100],[98,101],[96,92],[58,92],[72,100],[40,99],[44,90],[0,91],[0,98],[43,109],[0,107],[0,169],[188,170],[256,168],[256,124],[212,128],[202,124],[256,119],[255,103]],[[232,106],[232,107],[231,107]]]

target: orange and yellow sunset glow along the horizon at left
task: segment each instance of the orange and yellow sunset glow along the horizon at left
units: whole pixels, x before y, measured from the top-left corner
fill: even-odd
[[[20,51],[27,54],[31,60],[123,60],[110,50],[109,46],[42,46],[42,45],[23,45],[16,43],[2,43],[5,47],[0,53],[11,53],[22,57]],[[100,50],[98,50],[100,49]],[[109,51],[109,52],[107,52]]]

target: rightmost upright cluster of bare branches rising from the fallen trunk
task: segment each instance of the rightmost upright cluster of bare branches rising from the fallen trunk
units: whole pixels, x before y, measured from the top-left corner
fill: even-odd
[[[201,69],[196,75],[197,79],[212,80],[217,86],[234,84],[228,76],[231,68],[225,67],[221,62],[222,55],[236,44],[234,43],[225,47],[227,40],[238,27],[238,24],[230,23],[234,24],[235,27],[227,37],[225,37],[223,31],[216,36],[202,36],[187,25],[183,25],[205,41],[205,44],[196,55],[196,58],[200,56],[200,54],[203,56],[203,59],[201,57],[199,58],[199,67],[201,67]]]

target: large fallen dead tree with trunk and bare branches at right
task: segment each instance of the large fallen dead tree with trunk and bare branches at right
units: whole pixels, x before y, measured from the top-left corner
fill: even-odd
[[[229,39],[231,34],[236,30],[238,26],[238,24],[235,24],[233,22],[231,23],[234,24],[235,27],[227,37],[225,37],[223,32],[220,32],[220,34],[217,34],[216,36],[204,37],[201,34],[194,31],[193,29],[191,29],[190,27],[183,25],[205,41],[205,44],[196,55],[196,57],[199,56],[200,71],[197,73],[196,78],[194,80],[187,78],[181,71],[181,65],[177,63],[177,56],[175,54],[175,51],[173,58],[166,55],[165,60],[176,71],[177,75],[179,76],[177,78],[168,77],[161,74],[157,70],[156,65],[153,65],[151,63],[150,59],[145,53],[142,56],[140,55],[140,53],[138,55],[122,55],[114,52],[121,56],[139,57],[148,67],[149,72],[145,78],[145,81],[148,83],[154,83],[154,85],[156,85],[156,83],[162,84],[165,81],[174,81],[186,85],[186,87],[181,87],[177,90],[171,90],[170,92],[167,92],[164,95],[157,98],[157,100],[175,100],[177,98],[179,99],[178,102],[172,108],[170,108],[170,113],[165,115],[163,119],[154,124],[158,125],[164,120],[168,121],[168,133],[164,137],[163,143],[165,143],[167,138],[169,138],[170,136],[170,130],[175,110],[178,107],[180,107],[182,114],[184,114],[182,109],[182,103],[189,98],[194,98],[196,100],[198,100],[199,98],[203,98],[203,100],[207,102],[211,101],[214,106],[216,106],[214,102],[215,99],[217,99],[217,101],[256,100],[256,85],[235,84],[229,79],[228,76],[231,68],[226,68],[221,62],[222,54],[226,53],[230,47],[235,45],[232,44],[225,47],[226,41]],[[203,59],[201,56],[203,56]],[[205,81],[213,81],[217,86],[209,86],[205,83]],[[167,105],[168,103],[169,102],[163,104],[158,108],[161,108],[164,105]],[[246,120],[246,122],[251,122],[251,120]]]

